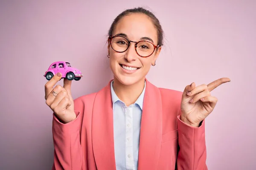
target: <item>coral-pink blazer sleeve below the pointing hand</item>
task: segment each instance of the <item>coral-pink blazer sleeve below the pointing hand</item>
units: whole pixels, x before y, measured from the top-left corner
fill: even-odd
[[[177,170],[208,170],[206,165],[205,120],[192,127],[177,116],[178,153]]]

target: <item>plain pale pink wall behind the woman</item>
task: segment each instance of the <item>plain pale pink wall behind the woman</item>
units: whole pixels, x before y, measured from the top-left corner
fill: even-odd
[[[221,77],[215,110],[206,119],[209,170],[256,169],[256,1],[129,0],[0,2],[0,169],[46,170],[53,163],[52,111],[43,77],[66,60],[84,77],[77,98],[113,77],[105,45],[113,19],[124,9],[154,11],[165,46],[147,78],[183,91]],[[59,83],[62,83],[59,82]]]

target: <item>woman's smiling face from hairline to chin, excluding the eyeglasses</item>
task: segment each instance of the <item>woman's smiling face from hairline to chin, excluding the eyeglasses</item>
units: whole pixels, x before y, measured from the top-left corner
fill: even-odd
[[[157,30],[151,19],[145,14],[130,14],[122,17],[114,28],[112,36],[117,34],[121,34],[122,37],[126,37],[130,41],[147,40],[154,45],[158,43]],[[114,77],[123,85],[133,85],[141,80],[144,81],[151,64],[154,65],[154,61],[161,51],[161,47],[159,47],[151,56],[140,57],[134,47],[135,43],[131,42],[127,51],[118,53],[111,48],[110,42],[108,43],[111,70]],[[132,69],[128,67],[132,67]]]

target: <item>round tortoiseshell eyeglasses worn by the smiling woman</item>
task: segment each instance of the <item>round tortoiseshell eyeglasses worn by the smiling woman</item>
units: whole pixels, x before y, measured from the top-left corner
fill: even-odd
[[[111,44],[111,48],[118,53],[125,52],[128,50],[131,42],[135,42],[122,36],[109,37],[108,41]],[[159,46],[160,45],[154,45],[152,42],[142,40],[135,42],[135,51],[140,57],[149,57]]]

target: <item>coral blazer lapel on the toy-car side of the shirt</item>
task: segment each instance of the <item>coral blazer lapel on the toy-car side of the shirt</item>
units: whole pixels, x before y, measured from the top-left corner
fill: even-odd
[[[116,170],[110,83],[96,94],[92,115],[92,144],[98,170]]]

